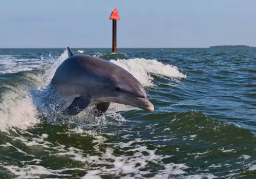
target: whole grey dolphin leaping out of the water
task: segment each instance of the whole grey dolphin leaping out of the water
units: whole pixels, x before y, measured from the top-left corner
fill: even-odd
[[[74,55],[63,61],[52,78],[51,85],[66,104],[62,113],[77,115],[89,105],[96,105],[99,114],[110,103],[119,103],[154,111],[142,84],[120,66],[89,55]]]

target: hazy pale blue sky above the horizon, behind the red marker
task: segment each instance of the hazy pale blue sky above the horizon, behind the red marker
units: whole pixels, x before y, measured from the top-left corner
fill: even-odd
[[[2,0],[0,48],[256,46],[255,0]]]

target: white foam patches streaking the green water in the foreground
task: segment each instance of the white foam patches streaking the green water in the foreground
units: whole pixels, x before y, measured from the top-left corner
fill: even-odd
[[[29,140],[23,136],[13,139],[16,140],[15,143],[19,141],[20,143],[25,144],[29,151],[37,153],[39,152],[38,150],[40,150],[47,152],[48,154],[40,155],[40,159],[36,159],[35,157],[32,161],[22,161],[22,163],[26,164],[23,167],[4,164],[0,164],[0,166],[10,171],[12,174],[17,175],[18,177],[16,178],[39,178],[39,176],[42,175],[69,177],[71,175],[63,174],[63,171],[72,170],[87,172],[87,174],[82,178],[101,178],[101,174],[110,174],[115,176],[124,175],[123,178],[129,178],[132,176],[136,178],[143,178],[144,174],[150,173],[153,173],[155,178],[167,178],[170,174],[177,176],[184,174],[186,173],[184,170],[189,168],[185,164],[165,164],[163,160],[171,158],[172,156],[158,154],[157,149],[148,149],[143,145],[145,140],[138,138],[130,140],[127,143],[118,141],[109,143],[108,138],[106,137],[100,135],[91,136],[94,140],[90,145],[93,145],[94,152],[93,154],[89,154],[87,151],[79,148],[65,147],[58,143],[51,143],[47,141],[47,137],[48,136],[46,134],[43,134],[41,136],[33,135],[31,137],[27,137]],[[127,135],[123,137],[126,138]],[[134,145],[135,143],[136,145]],[[13,147],[14,146],[9,143],[0,146],[2,149]],[[26,152],[19,150],[18,148],[15,149],[17,152],[20,152],[20,154],[26,154]],[[122,154],[116,153],[114,151],[116,149],[120,150]],[[40,165],[45,159],[61,160],[67,158],[73,161],[71,164],[80,167],[59,167],[57,169],[51,169]],[[34,165],[35,162],[37,165]],[[80,163],[83,165],[77,165]],[[161,169],[158,171],[145,170],[151,164],[157,165]]]

